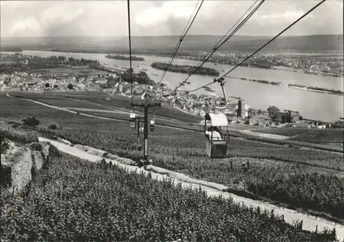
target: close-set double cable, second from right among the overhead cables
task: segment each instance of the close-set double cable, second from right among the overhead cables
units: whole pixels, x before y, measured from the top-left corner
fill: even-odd
[[[255,3],[257,3],[257,1],[258,1],[258,0],[256,0]],[[246,13],[247,13],[248,11],[250,11],[250,9],[255,5],[255,3],[253,3],[253,4],[250,6],[250,8],[248,8],[248,10],[246,10],[246,12],[241,16],[241,18],[232,26],[232,28],[230,28],[230,30],[232,30],[232,29],[235,27],[235,25],[237,25],[237,23],[239,23],[239,25],[237,25],[237,27],[235,28],[235,30],[233,30],[233,32],[232,32],[229,36],[226,37],[226,35],[230,32],[230,30],[228,30],[228,32],[227,32],[226,34],[224,34],[224,36],[222,37],[222,39],[220,39],[220,40],[217,42],[217,44],[213,47],[213,49],[212,49],[210,52],[208,52],[208,54],[206,54],[206,56],[208,56],[208,57],[206,57],[206,58],[202,61],[202,63],[198,64],[198,65],[193,69],[193,71],[192,71],[191,73],[189,73],[189,75],[182,81],[182,83],[179,83],[179,84],[175,87],[175,89],[173,89],[173,91],[171,91],[171,94],[173,94],[173,92],[174,92],[176,89],[178,89],[178,87],[180,87],[180,86],[182,86],[184,83],[186,83],[186,80],[189,80],[190,76],[192,76],[193,74],[195,74],[195,72],[197,72],[197,70],[200,69],[200,67],[202,67],[202,66],[206,63],[206,61],[208,61],[209,58],[211,58],[211,56],[216,52],[216,50],[217,50],[219,47],[221,47],[222,45],[224,45],[224,43],[226,43],[226,41],[228,41],[228,40],[230,39],[230,37],[232,37],[232,36],[235,34],[235,32],[237,32],[237,31],[246,23],[246,21],[248,21],[248,19],[250,19],[250,17],[258,10],[258,8],[261,6],[261,4],[264,3],[264,1],[265,1],[265,0],[262,0],[262,1],[252,10],[252,12],[250,12],[250,14],[248,14],[248,16],[246,16],[245,19],[244,19],[241,23],[239,23],[239,21],[246,15]],[[221,41],[222,41],[225,37],[226,37],[226,39],[221,43]],[[220,44],[220,43],[221,43],[221,44]]]

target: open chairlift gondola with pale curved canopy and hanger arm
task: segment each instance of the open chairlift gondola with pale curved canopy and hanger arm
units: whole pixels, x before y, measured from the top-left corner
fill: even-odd
[[[224,107],[215,107],[215,109],[225,109],[228,106],[226,93],[224,91],[224,78],[218,81],[224,93]],[[206,136],[206,154],[209,158],[225,158],[229,142],[228,120],[226,115],[221,112],[206,113],[204,119],[204,135]]]

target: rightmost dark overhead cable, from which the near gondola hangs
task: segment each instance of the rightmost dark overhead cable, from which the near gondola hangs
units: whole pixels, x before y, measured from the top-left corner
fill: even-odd
[[[296,21],[294,21],[293,23],[291,23],[287,28],[285,28],[284,30],[282,30],[281,32],[279,32],[279,34],[277,34],[274,38],[272,38],[270,41],[268,41],[267,43],[265,43],[263,46],[261,46],[258,50],[256,50],[255,52],[253,52],[252,54],[250,54],[250,56],[248,56],[247,58],[244,59],[244,61],[241,61],[238,65],[236,65],[235,67],[233,67],[233,69],[239,67],[239,65],[241,65],[242,63],[244,63],[245,61],[248,60],[248,58],[252,57],[254,54],[256,54],[257,52],[259,52],[259,50],[263,49],[264,47],[266,47],[266,45],[268,45],[269,43],[271,43],[272,41],[274,41],[275,39],[277,39],[281,34],[283,34],[284,32],[286,32],[286,30],[290,29],[295,23],[299,22],[301,19],[303,19],[304,17],[306,17],[308,14],[310,14],[310,12],[312,12],[313,10],[315,10],[316,8],[319,7],[319,5],[323,4],[326,0],[321,1],[320,3],[316,4],[313,8],[311,8],[308,12],[306,12],[305,14],[303,14],[301,17],[299,17],[299,19],[297,19]],[[203,85],[202,87],[198,87],[196,89],[193,89],[192,91],[187,91],[184,94],[180,94],[179,96],[176,96],[174,98],[180,98],[181,96],[184,96],[186,94],[189,94],[193,91],[197,91],[199,89],[202,89],[203,87],[207,87],[213,83],[216,83],[219,79],[226,77],[227,74],[229,74],[230,72],[233,71],[233,69],[230,69],[229,72],[227,72],[226,74],[224,74],[223,76],[221,76],[220,78],[215,78],[213,80],[213,82],[208,83],[206,85]],[[166,102],[166,101],[162,101],[162,102]]]

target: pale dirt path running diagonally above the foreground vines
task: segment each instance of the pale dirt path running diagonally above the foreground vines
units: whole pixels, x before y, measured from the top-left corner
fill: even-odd
[[[67,153],[69,155],[74,155],[76,157],[80,157],[81,159],[86,159],[90,162],[99,162],[100,159],[103,159],[103,155],[106,153],[105,151],[98,150],[96,148],[92,148],[89,146],[70,146],[69,142],[58,142],[56,140],[50,140],[44,137],[39,137],[39,141],[41,142],[50,142],[53,146],[58,148],[59,151]],[[80,148],[81,147],[81,148]],[[170,170],[165,170],[156,166],[147,166],[146,169],[138,168],[137,166],[130,166],[127,164],[122,164],[115,159],[105,159],[106,162],[112,162],[119,167],[126,168],[129,172],[136,172],[140,173],[143,172],[145,175],[151,173],[152,178],[156,179],[173,179],[175,184],[180,183],[183,187],[193,187],[193,188],[202,188],[206,190],[208,196],[222,196],[224,198],[232,198],[233,201],[237,203],[244,203],[246,206],[252,207],[260,207],[263,210],[274,210],[275,214],[284,216],[284,219],[288,223],[292,223],[293,221],[303,220],[303,229],[314,231],[316,229],[316,225],[318,225],[318,230],[323,230],[324,228],[329,228],[332,230],[336,228],[337,239],[340,241],[344,241],[344,225],[340,225],[338,223],[334,223],[331,221],[327,221],[325,219],[321,219],[319,217],[310,216],[308,214],[303,214],[301,212],[297,212],[294,210],[290,210],[287,208],[279,208],[274,206],[270,203],[262,202],[262,201],[255,201],[252,199],[248,199],[245,197],[239,197],[237,195],[233,195],[229,192],[223,192],[226,186],[222,184],[215,184],[213,182],[203,181],[199,179],[192,179],[191,177],[181,174],[171,172]]]

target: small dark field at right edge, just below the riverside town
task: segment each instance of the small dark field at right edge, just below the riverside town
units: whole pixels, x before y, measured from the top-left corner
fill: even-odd
[[[303,133],[297,137],[292,137],[290,140],[297,140],[301,142],[310,142],[316,144],[326,143],[344,143],[344,129],[318,129]]]

